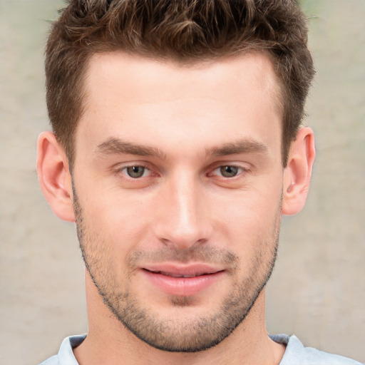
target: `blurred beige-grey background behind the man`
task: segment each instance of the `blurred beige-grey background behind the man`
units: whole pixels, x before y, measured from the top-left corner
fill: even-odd
[[[1,0],[0,0],[1,1]],[[365,1],[302,0],[317,78],[306,124],[317,135],[307,207],[284,217],[267,288],[267,327],[365,361]],[[0,364],[38,364],[86,332],[73,225],[38,187],[48,128],[43,48],[58,0],[0,2]]]

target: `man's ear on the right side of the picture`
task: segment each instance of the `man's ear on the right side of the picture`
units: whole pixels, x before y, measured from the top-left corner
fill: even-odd
[[[287,168],[284,170],[282,214],[300,212],[307,200],[309,183],[316,150],[311,128],[301,128],[289,150]]]

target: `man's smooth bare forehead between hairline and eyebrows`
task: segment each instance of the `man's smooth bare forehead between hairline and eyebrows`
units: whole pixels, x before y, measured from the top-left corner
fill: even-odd
[[[185,143],[190,133],[210,148],[210,140],[225,143],[237,132],[267,137],[274,125],[280,140],[279,82],[264,53],[190,64],[98,54],[88,63],[85,93],[76,150],[80,135],[92,133],[96,139],[123,136],[131,142],[138,136],[138,143],[148,145],[156,133],[175,144],[179,138]]]

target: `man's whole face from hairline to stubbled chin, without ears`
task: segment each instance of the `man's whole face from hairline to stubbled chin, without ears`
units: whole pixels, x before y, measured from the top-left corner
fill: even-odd
[[[74,206],[86,267],[148,344],[225,339],[271,273],[281,113],[262,54],[179,66],[93,56],[76,132]]]

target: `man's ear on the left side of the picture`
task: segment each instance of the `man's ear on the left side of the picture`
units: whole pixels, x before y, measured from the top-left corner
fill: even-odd
[[[53,212],[62,220],[74,222],[68,159],[51,132],[43,132],[38,137],[37,171],[41,190]]]

